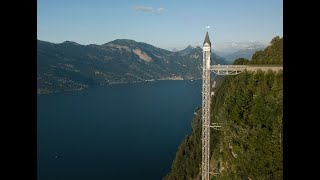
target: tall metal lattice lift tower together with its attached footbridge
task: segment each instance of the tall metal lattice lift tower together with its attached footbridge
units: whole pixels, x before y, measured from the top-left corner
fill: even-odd
[[[217,75],[237,75],[244,71],[279,71],[282,70],[282,65],[210,65],[211,42],[208,32],[203,44],[203,75],[202,75],[202,180],[209,180],[210,174],[217,175],[219,173],[210,172],[210,128],[219,130],[221,125],[213,123],[210,125],[210,71]],[[215,86],[215,81],[213,86]],[[214,92],[212,92],[214,94]]]

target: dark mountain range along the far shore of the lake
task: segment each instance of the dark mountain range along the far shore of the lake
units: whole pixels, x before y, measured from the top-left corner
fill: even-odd
[[[211,54],[211,64],[226,64]],[[117,39],[102,45],[37,41],[37,92],[81,90],[96,85],[149,80],[199,79],[202,49],[172,52],[147,43]]]

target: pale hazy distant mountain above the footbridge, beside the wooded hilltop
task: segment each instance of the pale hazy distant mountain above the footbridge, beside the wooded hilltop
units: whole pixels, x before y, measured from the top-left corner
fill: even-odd
[[[256,52],[256,51],[260,51],[263,50],[265,48],[265,46],[260,46],[260,47],[248,47],[246,49],[240,49],[236,52],[227,54],[224,56],[224,58],[226,58],[226,61],[229,63],[232,63],[235,59],[238,58],[245,58],[245,59],[251,59],[252,55]]]

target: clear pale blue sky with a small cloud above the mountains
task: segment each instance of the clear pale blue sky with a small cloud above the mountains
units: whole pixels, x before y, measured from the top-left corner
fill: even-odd
[[[206,28],[210,26],[210,28]],[[82,45],[132,39],[172,50],[269,43],[283,36],[282,0],[38,0],[37,38]]]

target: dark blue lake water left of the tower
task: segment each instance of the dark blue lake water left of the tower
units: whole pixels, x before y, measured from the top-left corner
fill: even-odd
[[[157,180],[201,106],[201,81],[37,96],[38,180]]]

